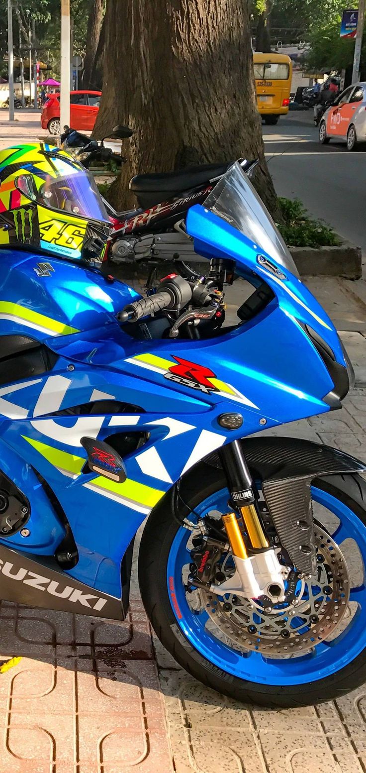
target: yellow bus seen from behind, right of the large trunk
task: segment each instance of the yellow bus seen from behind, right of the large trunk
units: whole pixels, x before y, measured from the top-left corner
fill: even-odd
[[[293,63],[283,53],[253,52],[256,103],[266,124],[276,124],[289,111]]]

